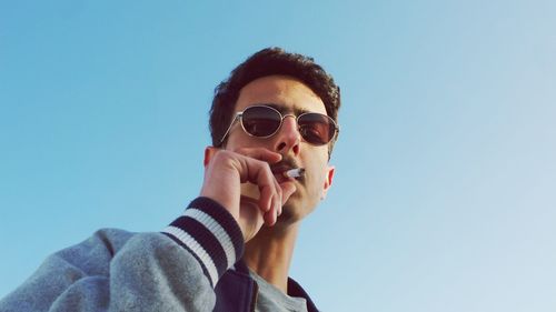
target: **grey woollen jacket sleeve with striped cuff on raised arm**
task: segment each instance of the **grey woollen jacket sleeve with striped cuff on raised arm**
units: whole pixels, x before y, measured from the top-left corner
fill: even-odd
[[[242,239],[224,208],[199,198],[161,233],[105,229],[50,255],[0,311],[211,311]]]

